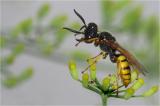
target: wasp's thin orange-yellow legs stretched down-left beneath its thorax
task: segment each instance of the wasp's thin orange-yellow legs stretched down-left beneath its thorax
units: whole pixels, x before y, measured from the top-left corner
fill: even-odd
[[[82,71],[82,73],[84,73],[85,71],[87,71],[92,65],[96,64],[101,58],[104,57],[104,55],[106,56],[107,54],[105,52],[101,52],[97,56],[87,59],[87,62],[89,62],[90,60],[94,60],[94,59],[95,60],[92,62],[92,64],[90,64],[88,67],[86,67],[85,70]]]

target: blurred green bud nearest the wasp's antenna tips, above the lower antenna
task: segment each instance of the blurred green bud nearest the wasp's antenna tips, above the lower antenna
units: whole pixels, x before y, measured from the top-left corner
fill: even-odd
[[[55,16],[51,22],[50,25],[53,29],[57,28],[62,28],[62,26],[65,24],[65,22],[67,21],[68,17],[67,15],[59,15],[59,16]]]

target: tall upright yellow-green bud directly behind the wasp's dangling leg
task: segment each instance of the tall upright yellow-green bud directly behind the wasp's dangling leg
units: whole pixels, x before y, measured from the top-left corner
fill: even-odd
[[[94,62],[95,61],[93,59],[88,60],[88,64],[91,65],[90,66],[90,77],[92,80],[96,79],[96,63]]]

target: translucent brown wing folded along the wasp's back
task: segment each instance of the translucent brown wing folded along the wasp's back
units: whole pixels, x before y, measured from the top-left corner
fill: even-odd
[[[146,68],[126,49],[124,49],[121,45],[119,45],[117,42],[113,42],[110,40],[105,41],[108,46],[110,46],[113,49],[118,50],[121,54],[123,54],[128,62],[133,66],[133,68],[138,69],[139,72],[141,72],[143,75],[147,73]]]

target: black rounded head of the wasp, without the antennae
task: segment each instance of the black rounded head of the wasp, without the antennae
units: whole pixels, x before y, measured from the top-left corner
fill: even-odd
[[[85,29],[85,38],[95,38],[97,37],[98,27],[95,23],[89,23],[87,28]]]

